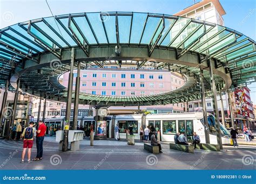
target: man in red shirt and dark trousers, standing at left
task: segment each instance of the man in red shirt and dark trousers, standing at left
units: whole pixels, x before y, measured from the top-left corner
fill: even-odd
[[[36,135],[37,155],[35,160],[42,160],[43,159],[43,141],[44,141],[46,126],[42,121],[39,121],[38,124],[39,126],[37,130],[37,135]]]

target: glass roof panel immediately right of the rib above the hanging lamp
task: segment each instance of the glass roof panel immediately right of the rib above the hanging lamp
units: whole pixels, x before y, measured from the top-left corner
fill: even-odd
[[[119,42],[129,43],[131,16],[118,16]]]

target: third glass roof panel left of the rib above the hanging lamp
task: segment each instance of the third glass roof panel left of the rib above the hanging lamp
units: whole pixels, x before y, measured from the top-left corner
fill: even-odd
[[[73,17],[77,25],[79,26],[79,29],[83,32],[84,37],[89,42],[89,44],[97,44],[97,41],[95,37],[93,36],[92,30],[86,20],[86,18],[83,17]]]

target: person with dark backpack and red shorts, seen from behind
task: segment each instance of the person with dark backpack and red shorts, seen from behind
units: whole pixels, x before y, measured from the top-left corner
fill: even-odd
[[[24,163],[24,157],[26,154],[26,148],[28,148],[28,162],[32,162],[33,160],[30,159],[31,157],[31,148],[33,146],[33,137],[35,130],[33,129],[34,122],[30,122],[29,126],[24,129],[22,133],[22,138],[24,137],[23,140],[23,152],[22,152],[22,160],[21,162]]]

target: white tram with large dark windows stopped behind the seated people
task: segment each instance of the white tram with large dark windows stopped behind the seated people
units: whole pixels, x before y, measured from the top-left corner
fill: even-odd
[[[208,128],[210,132],[210,143],[217,144],[215,119],[210,113],[207,113]],[[63,118],[47,118],[45,124],[48,127],[52,126],[55,129],[62,126]],[[72,117],[70,127],[72,126]],[[78,117],[78,125],[83,128],[87,135],[90,134],[90,125],[95,125],[93,117]],[[119,125],[120,138],[126,138],[126,129],[130,125],[133,127],[135,139],[140,139],[140,127],[153,126],[154,130],[160,132],[161,141],[174,141],[174,135],[177,132],[185,132],[188,142],[192,141],[193,132],[197,132],[200,136],[201,143],[205,143],[205,132],[203,124],[203,112],[184,112],[173,114],[149,114],[149,115],[117,115],[108,116],[106,121],[106,137],[114,138],[114,126]],[[230,132],[220,124],[221,137],[223,144],[230,144]],[[49,134],[49,131],[46,131]]]

